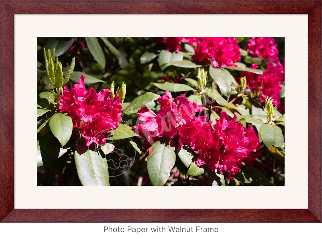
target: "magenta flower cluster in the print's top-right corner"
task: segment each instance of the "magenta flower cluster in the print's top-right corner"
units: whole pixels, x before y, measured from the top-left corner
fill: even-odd
[[[279,63],[279,50],[277,50],[277,45],[271,37],[253,37],[248,40],[244,49],[248,50],[252,57],[261,57],[264,60],[271,59]]]

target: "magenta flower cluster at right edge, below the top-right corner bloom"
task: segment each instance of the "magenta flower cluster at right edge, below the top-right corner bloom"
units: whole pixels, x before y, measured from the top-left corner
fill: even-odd
[[[257,69],[257,65],[253,64],[252,69]],[[273,97],[273,104],[279,106],[279,93],[282,87],[279,85],[284,82],[284,66],[277,64],[273,65],[269,62],[267,69],[263,75],[255,74],[252,72],[241,72],[241,76],[246,77],[247,86],[255,95],[259,95],[260,101],[265,102],[266,97]]]

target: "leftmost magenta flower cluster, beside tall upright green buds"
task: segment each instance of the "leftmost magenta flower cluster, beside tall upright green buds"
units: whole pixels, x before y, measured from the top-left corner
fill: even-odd
[[[106,132],[118,127],[122,120],[121,98],[111,98],[111,91],[103,89],[99,93],[95,89],[86,90],[85,76],[68,90],[64,87],[59,110],[71,116],[73,128],[79,128],[86,140],[86,146],[92,142],[105,145]],[[118,92],[117,92],[118,94]]]

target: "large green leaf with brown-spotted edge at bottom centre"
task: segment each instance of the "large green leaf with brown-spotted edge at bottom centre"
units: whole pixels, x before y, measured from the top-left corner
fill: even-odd
[[[160,141],[153,144],[147,157],[147,172],[152,185],[164,185],[174,164],[175,150],[173,147],[162,144]]]

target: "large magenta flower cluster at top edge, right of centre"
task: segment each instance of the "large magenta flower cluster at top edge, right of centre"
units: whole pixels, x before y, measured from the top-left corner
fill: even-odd
[[[235,66],[241,59],[237,42],[234,37],[201,37],[196,42],[193,60],[213,64],[214,67]]]

